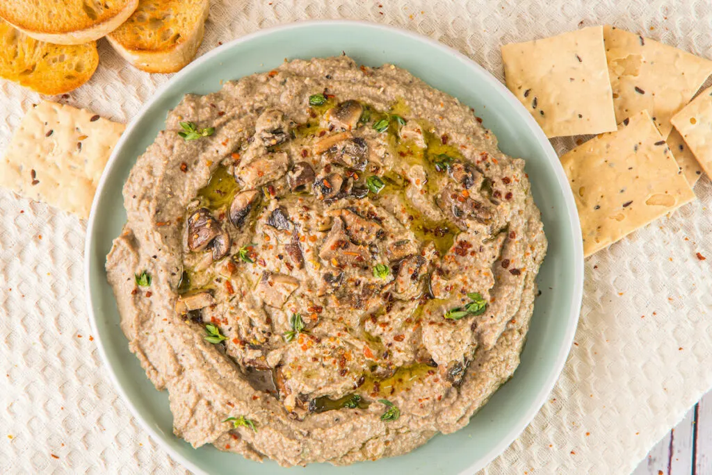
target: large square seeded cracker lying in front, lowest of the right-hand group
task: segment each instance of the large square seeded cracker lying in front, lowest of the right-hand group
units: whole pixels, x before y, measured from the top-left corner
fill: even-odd
[[[695,198],[646,111],[561,157],[585,256]]]

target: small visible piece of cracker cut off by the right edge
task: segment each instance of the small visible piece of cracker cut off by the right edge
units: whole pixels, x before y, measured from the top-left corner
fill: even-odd
[[[712,177],[712,87],[675,114],[672,123],[707,176]]]

